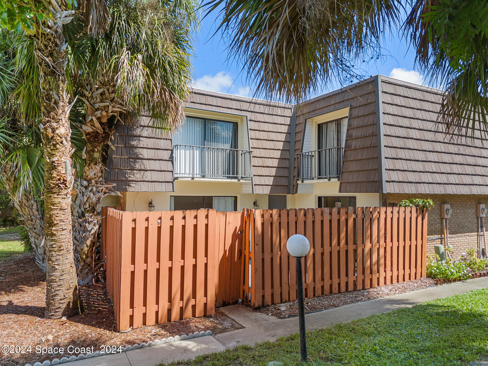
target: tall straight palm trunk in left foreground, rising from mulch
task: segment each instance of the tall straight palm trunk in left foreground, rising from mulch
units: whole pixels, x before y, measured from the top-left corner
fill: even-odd
[[[42,22],[34,52],[41,81],[42,140],[44,145],[44,247],[46,250],[46,318],[71,317],[83,311],[73,256],[71,230],[71,129],[66,91],[66,47],[62,24],[69,22],[67,4]],[[62,12],[63,11],[63,12]],[[54,13],[53,13],[54,12]]]

